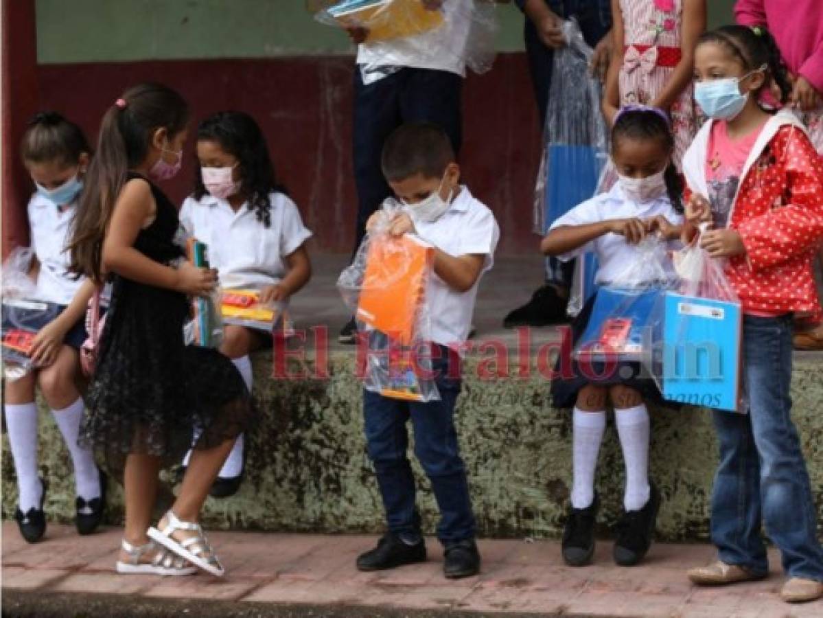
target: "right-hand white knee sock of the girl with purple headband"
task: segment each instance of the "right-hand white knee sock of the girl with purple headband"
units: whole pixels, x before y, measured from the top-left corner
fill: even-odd
[[[617,434],[625,462],[627,511],[639,511],[649,501],[649,411],[644,404],[615,411]]]

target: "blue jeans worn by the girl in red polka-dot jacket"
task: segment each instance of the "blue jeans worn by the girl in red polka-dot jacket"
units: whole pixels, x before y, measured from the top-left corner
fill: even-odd
[[[823,550],[800,440],[790,412],[792,317],[743,318],[748,415],[714,411],[720,465],[712,495],[712,542],[720,560],[769,569],[760,523],[790,577],[823,582]]]

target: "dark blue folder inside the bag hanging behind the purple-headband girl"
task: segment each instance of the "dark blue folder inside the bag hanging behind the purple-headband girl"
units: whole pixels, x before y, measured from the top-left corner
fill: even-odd
[[[597,190],[602,161],[594,146],[549,144],[546,151],[546,230]]]

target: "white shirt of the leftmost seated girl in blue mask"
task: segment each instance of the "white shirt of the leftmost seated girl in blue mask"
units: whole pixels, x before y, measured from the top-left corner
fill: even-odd
[[[40,262],[35,298],[50,303],[69,304],[83,283],[68,271],[69,255],[66,249],[70,226],[77,212],[77,200],[60,212],[40,193],[29,200],[29,230],[31,249]]]

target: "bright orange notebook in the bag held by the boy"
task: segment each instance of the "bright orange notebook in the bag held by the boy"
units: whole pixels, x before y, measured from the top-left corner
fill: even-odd
[[[435,248],[416,236],[372,239],[357,318],[410,345],[434,264]]]

